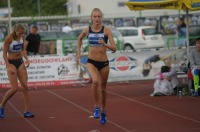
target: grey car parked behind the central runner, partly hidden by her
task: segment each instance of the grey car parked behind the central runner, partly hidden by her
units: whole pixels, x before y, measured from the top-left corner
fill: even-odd
[[[85,27],[79,27],[76,29],[72,29],[71,31],[69,31],[67,33],[67,38],[64,39],[64,47],[66,52],[76,52],[77,50],[77,39],[78,36],[81,34],[82,30]],[[114,27],[110,27],[111,32],[113,34],[114,37],[114,41],[116,43],[117,49],[118,50],[122,50],[124,47],[124,38],[121,35],[121,33]],[[88,40],[85,37],[82,41],[82,51],[86,52],[88,51]]]

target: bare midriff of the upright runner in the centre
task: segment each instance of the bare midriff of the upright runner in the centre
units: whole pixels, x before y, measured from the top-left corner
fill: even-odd
[[[92,47],[90,46],[90,50],[88,53],[88,58],[96,61],[106,61],[108,57],[106,55],[106,47]]]

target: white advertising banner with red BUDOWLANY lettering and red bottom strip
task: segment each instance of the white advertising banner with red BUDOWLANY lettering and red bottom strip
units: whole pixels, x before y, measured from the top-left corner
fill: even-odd
[[[29,58],[31,63],[27,68],[29,86],[67,85],[85,81],[80,78],[80,66],[72,55]],[[3,59],[0,59],[0,87],[9,87]]]

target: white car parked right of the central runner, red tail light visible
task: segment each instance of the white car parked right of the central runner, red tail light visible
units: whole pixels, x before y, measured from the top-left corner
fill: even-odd
[[[163,48],[165,41],[162,34],[152,26],[141,27],[117,27],[124,37],[125,50]]]

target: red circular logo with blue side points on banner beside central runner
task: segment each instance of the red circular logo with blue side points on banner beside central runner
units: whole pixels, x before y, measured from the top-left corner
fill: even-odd
[[[110,69],[127,71],[137,67],[137,60],[128,56],[118,56],[110,60]]]

